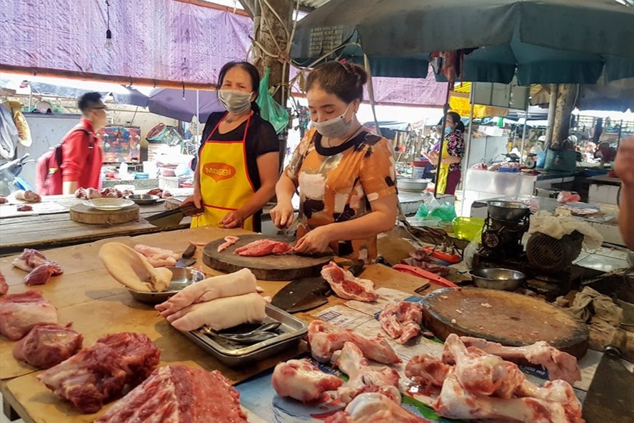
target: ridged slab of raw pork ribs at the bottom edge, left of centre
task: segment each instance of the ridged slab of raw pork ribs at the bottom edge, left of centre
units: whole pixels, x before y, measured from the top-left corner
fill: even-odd
[[[161,367],[95,423],[246,423],[239,395],[218,370]]]

